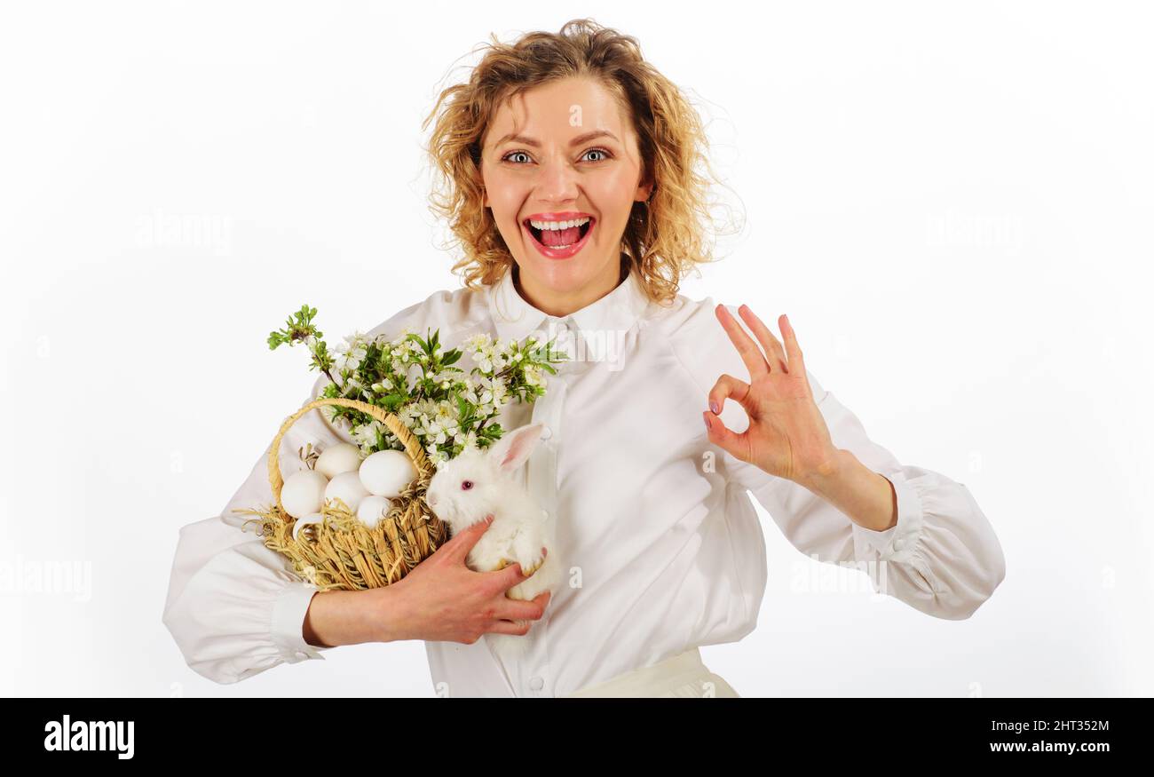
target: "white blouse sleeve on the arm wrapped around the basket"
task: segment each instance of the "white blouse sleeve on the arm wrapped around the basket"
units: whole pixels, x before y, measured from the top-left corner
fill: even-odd
[[[316,398],[327,381],[322,375],[306,402]],[[270,439],[275,432],[269,431]],[[282,473],[287,477],[304,466],[297,451],[307,442],[323,447],[340,441],[350,438],[320,411],[306,413],[282,441]],[[219,515],[180,530],[163,621],[188,666],[216,682],[323,658],[325,649],[308,644],[302,634],[316,589],[292,574],[287,559],[264,546],[253,524],[241,530],[254,516],[232,513],[272,502],[265,451]]]

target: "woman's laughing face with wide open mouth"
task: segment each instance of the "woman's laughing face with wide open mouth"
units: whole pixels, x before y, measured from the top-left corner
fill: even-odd
[[[652,187],[642,182],[632,124],[601,84],[570,77],[502,104],[481,178],[531,304],[567,315],[617,285],[621,236]]]

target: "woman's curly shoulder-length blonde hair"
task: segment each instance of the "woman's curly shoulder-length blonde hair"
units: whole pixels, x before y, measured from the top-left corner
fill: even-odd
[[[651,300],[672,300],[682,278],[714,261],[705,238],[713,224],[711,182],[720,181],[697,111],[642,58],[636,38],[590,18],[569,21],[556,33],[527,32],[512,44],[494,35],[490,39],[480,46],[486,53],[469,81],[444,89],[421,125],[425,129],[435,120],[425,149],[435,174],[430,210],[452,232],[445,247],[464,252],[452,271],[463,274],[465,286],[478,289],[496,283],[514,266],[485,208],[480,175],[481,142],[500,104],[539,84],[589,76],[631,118],[643,180],[654,184],[649,202],[634,203],[622,233],[622,274],[635,270]]]

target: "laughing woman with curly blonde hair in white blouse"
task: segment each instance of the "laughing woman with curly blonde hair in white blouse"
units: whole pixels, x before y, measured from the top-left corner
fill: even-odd
[[[436,328],[448,349],[537,333],[569,350],[545,397],[502,411],[505,428],[545,425],[526,484],[556,521],[567,584],[507,599],[517,565],[464,566],[481,522],[394,585],[317,593],[238,530],[232,508],[272,501],[262,456],[220,516],[181,532],[164,621],[189,665],[234,682],[336,645],[418,638],[440,695],[736,696],[698,647],[757,622],[765,541],[747,491],[801,552],[968,618],[1005,567],[966,487],[872,442],[807,371],[786,316],[779,342],[744,306],[677,293],[707,257],[707,189],[704,135],[676,87],[636,40],[589,20],[494,44],[426,121],[465,285],[369,335]],[[351,439],[308,413],[286,447]],[[531,643],[505,665],[485,633]]]

